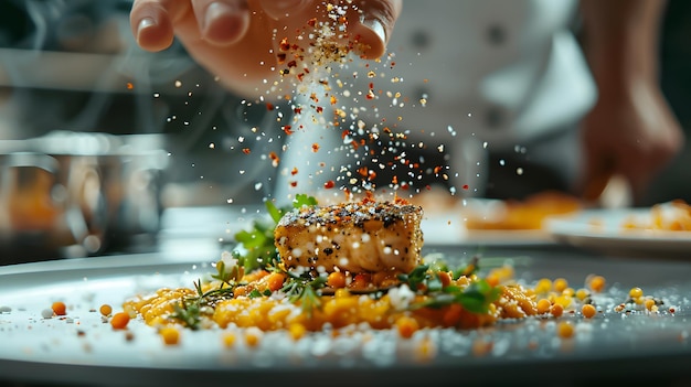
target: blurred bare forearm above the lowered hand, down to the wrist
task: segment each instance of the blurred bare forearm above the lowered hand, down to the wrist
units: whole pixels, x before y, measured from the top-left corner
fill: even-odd
[[[657,83],[665,0],[582,0],[584,50],[602,93]]]

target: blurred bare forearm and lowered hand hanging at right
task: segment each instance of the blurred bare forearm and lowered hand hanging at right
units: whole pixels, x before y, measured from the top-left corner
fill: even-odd
[[[582,0],[584,47],[598,100],[584,122],[586,198],[613,175],[640,202],[652,178],[683,146],[659,88],[658,41],[665,1]]]

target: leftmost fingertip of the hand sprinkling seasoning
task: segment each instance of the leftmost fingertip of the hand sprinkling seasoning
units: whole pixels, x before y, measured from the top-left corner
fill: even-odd
[[[188,8],[188,1],[136,0],[129,22],[137,44],[147,51],[168,49],[173,41],[173,22]]]

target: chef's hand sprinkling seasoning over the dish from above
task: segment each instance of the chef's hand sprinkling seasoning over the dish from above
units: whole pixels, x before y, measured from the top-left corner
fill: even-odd
[[[384,53],[400,12],[401,0],[357,0],[348,6],[347,33],[360,43],[361,56]],[[323,0],[135,0],[130,24],[142,49],[164,50],[177,36],[226,86],[256,96],[262,82],[277,76],[280,40],[298,43],[297,32],[306,31],[313,18],[327,20]]]

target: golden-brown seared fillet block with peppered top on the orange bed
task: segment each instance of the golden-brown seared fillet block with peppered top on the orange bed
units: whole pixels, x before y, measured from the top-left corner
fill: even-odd
[[[421,261],[422,207],[374,202],[294,209],[274,232],[286,268],[410,272]]]

